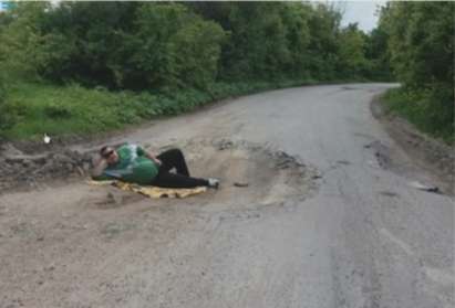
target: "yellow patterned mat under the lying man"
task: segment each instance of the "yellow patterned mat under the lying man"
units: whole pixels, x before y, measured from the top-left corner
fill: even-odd
[[[87,182],[92,185],[113,185],[121,190],[137,192],[149,198],[186,198],[189,195],[199,194],[207,191],[206,187],[197,187],[194,189],[167,189],[157,187],[143,187],[139,184],[125,183],[122,181],[89,180]]]

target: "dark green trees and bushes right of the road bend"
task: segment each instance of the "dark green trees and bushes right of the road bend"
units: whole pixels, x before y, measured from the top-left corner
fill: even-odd
[[[422,129],[454,139],[454,2],[390,2],[379,30],[403,88],[389,94],[392,109]]]

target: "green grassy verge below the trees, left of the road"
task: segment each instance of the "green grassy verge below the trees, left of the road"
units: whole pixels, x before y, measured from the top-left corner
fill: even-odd
[[[205,91],[162,93],[110,92],[77,84],[56,86],[17,82],[8,85],[1,107],[0,136],[38,140],[51,136],[85,136],[121,129],[159,116],[178,115],[226,97],[282,88],[311,81],[215,83]],[[1,113],[0,111],[0,113]]]

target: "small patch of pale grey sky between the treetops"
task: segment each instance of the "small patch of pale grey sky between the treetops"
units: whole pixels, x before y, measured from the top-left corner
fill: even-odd
[[[337,8],[344,11],[341,25],[359,23],[359,28],[365,32],[373,30],[378,23],[376,9],[385,6],[386,1],[333,1]]]

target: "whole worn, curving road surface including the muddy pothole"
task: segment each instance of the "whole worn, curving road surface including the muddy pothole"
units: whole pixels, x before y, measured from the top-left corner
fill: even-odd
[[[390,86],[275,91],[110,140],[178,146],[217,192],[1,195],[0,307],[453,307],[453,199],[410,184],[437,180],[371,115]]]

